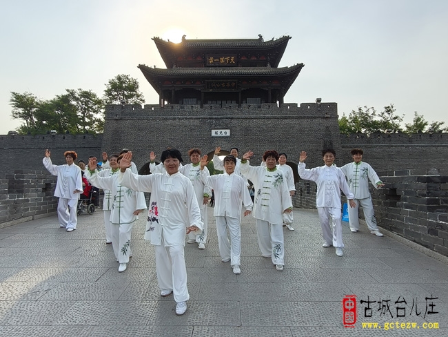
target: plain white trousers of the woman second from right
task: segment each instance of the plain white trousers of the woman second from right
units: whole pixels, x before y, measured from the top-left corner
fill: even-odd
[[[343,228],[340,220],[340,207],[318,207],[323,240],[333,247],[344,248]],[[333,232],[333,233],[332,233]]]

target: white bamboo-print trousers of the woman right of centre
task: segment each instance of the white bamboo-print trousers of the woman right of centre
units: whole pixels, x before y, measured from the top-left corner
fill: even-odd
[[[256,236],[261,254],[271,256],[273,264],[285,264],[285,242],[283,240],[282,224],[270,224],[256,219]]]

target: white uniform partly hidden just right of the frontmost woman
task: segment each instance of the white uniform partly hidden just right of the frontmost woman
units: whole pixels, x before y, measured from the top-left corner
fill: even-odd
[[[204,171],[208,168],[205,167]],[[194,233],[190,232],[188,234],[188,238],[190,240],[196,240],[198,243],[206,243],[207,242],[207,225],[208,225],[208,216],[207,216],[207,204],[204,204],[204,197],[210,198],[212,196],[212,189],[210,189],[210,186],[207,186],[201,180],[201,177],[199,177],[199,173],[201,172],[201,163],[198,163],[196,165],[194,164],[186,164],[182,167],[179,167],[179,172],[185,175],[188,179],[190,179],[190,182],[193,184],[194,188],[194,194],[196,194],[196,199],[198,200],[198,206],[201,210],[201,220],[204,224],[204,228],[201,231],[201,233]]]

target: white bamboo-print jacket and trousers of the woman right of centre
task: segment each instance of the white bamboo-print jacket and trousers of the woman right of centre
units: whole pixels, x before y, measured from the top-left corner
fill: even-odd
[[[254,183],[255,202],[252,215],[256,218],[258,247],[261,254],[271,256],[273,264],[285,264],[283,211],[292,208],[287,182],[277,167],[250,166],[241,163],[241,173]]]

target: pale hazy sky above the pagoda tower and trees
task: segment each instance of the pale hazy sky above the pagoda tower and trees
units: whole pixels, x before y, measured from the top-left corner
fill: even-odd
[[[165,68],[152,37],[257,39],[289,35],[279,66],[305,67],[287,103],[338,103],[338,114],[394,104],[448,126],[446,0],[16,0],[2,1],[0,134],[17,128],[11,92],[52,99],[65,89],[103,95],[116,75],[159,97],[139,64]]]

